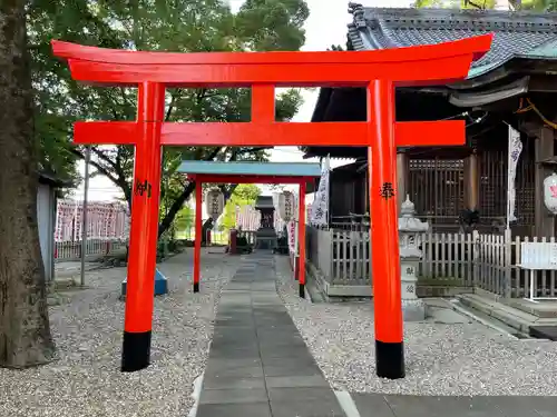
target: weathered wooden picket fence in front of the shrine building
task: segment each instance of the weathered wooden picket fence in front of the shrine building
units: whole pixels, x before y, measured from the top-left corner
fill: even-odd
[[[504,297],[529,294],[529,271],[520,264],[520,242],[550,241],[490,234],[426,234],[419,276],[431,281],[458,281]],[[330,285],[371,285],[371,242],[365,231],[307,228],[307,259]],[[556,271],[537,271],[535,296],[556,297]]]

